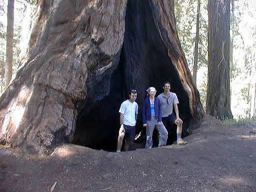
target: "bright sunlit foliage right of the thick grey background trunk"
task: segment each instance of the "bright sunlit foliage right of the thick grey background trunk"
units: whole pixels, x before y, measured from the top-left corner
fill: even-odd
[[[231,34],[233,65],[231,66],[231,105],[236,118],[251,118],[255,111],[256,85],[256,3],[253,0],[234,2]]]

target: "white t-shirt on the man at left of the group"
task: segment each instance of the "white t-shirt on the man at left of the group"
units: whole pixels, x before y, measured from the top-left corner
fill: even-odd
[[[135,114],[138,114],[138,104],[127,99],[122,102],[119,113],[123,114],[123,124],[135,126]]]

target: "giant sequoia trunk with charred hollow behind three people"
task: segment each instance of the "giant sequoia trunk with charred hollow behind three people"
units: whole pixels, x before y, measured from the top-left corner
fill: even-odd
[[[186,133],[203,109],[173,1],[41,0],[27,61],[0,99],[0,139],[36,152],[63,142],[113,150],[128,90],[141,106],[145,89],[161,92],[166,80]]]

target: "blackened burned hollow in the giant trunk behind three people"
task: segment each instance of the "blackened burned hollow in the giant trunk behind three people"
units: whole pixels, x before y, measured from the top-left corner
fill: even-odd
[[[96,149],[114,151],[119,130],[119,108],[122,101],[128,99],[129,90],[136,89],[139,116],[136,133],[142,129],[142,103],[146,89],[153,86],[157,95],[163,92],[163,83],[172,84],[172,92],[179,99],[179,114],[183,119],[183,136],[187,135],[192,114],[188,94],[182,79],[168,54],[168,49],[156,27],[150,1],[127,2],[125,14],[125,32],[120,56],[116,58],[116,68],[111,74],[90,87],[88,98],[82,104],[77,118],[73,143]],[[163,33],[167,33],[164,31]],[[162,35],[162,34],[161,34]],[[174,55],[179,57],[178,53]],[[91,77],[93,81],[93,77]],[[106,83],[107,82],[107,83]],[[101,90],[109,90],[100,97]],[[91,94],[90,94],[91,93]],[[176,130],[168,130],[168,143],[176,138]]]

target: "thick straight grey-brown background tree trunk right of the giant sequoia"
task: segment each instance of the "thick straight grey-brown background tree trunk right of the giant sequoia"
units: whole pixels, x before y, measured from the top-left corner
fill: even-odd
[[[208,89],[206,113],[232,118],[230,110],[230,0],[208,0]]]

